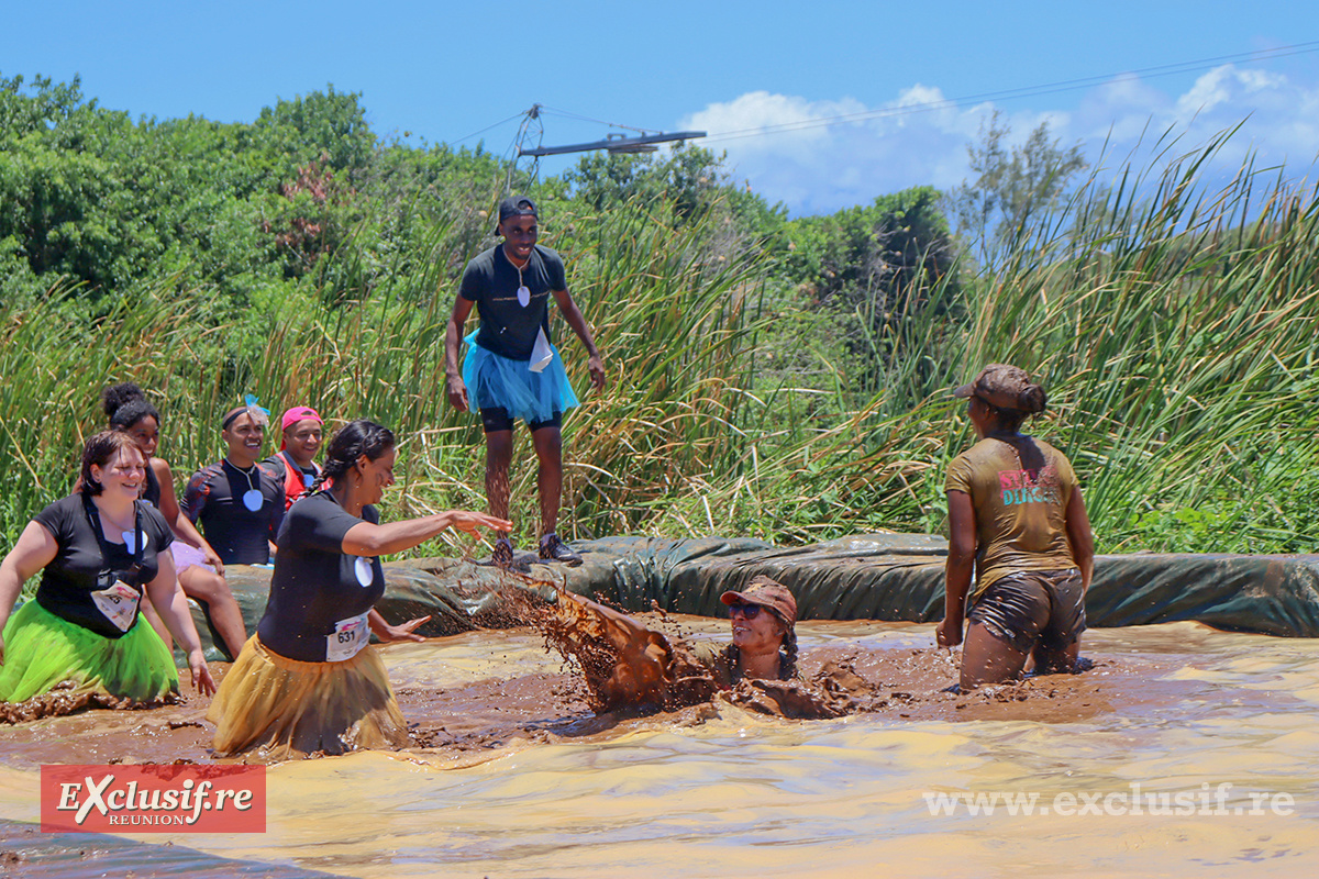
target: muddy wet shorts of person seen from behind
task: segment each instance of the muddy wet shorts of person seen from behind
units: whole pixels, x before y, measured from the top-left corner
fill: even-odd
[[[1080,571],[1022,571],[995,580],[975,600],[968,619],[1029,654],[1066,650],[1086,631]]]

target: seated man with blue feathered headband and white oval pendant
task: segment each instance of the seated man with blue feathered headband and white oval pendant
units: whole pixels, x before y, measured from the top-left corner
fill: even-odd
[[[269,564],[284,518],[284,472],[262,467],[268,412],[248,398],[224,414],[226,455],[187,482],[183,513],[200,522],[224,564]]]

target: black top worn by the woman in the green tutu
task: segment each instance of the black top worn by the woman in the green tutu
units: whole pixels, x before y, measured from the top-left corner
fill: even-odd
[[[33,522],[49,531],[59,546],[55,557],[41,572],[36,594],[38,605],[98,635],[124,635],[98,610],[91,593],[112,586],[115,580],[144,592],[160,572],[157,557],[174,542],[174,532],[165,525],[160,510],[142,501],[133,506],[135,531],[144,538],[141,552],[129,552],[124,543],[106,540],[94,525],[100,521],[95,506],[82,494],[55,501],[33,517]],[[129,630],[135,625],[137,618]]]

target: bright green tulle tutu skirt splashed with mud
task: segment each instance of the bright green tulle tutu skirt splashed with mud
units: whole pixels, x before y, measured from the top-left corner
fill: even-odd
[[[123,638],[104,638],[28,601],[4,627],[0,702],[47,693],[58,693],[73,709],[164,704],[178,693],[178,669],[165,642],[141,618]],[[41,713],[65,713],[51,708]]]

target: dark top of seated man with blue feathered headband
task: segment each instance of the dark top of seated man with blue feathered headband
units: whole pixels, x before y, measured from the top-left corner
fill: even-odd
[[[243,503],[249,489],[261,492],[257,510]],[[278,534],[284,518],[284,473],[261,464],[240,470],[222,460],[193,474],[179,506],[202,525],[206,542],[224,564],[268,564],[266,540]]]

